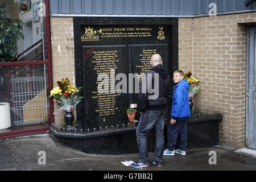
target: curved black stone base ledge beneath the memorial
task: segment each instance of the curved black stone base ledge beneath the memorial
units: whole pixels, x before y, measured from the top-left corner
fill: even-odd
[[[192,113],[188,120],[188,150],[190,148],[213,147],[219,144],[219,122],[221,114]],[[136,139],[138,123],[131,127],[119,129],[104,129],[86,133],[81,130],[68,130],[57,126],[51,126],[51,137],[57,142],[87,154],[134,154],[139,152]],[[165,126],[165,141],[167,143]],[[155,134],[154,130],[148,136],[148,150],[154,152]],[[179,138],[177,140],[177,145]],[[166,147],[166,144],[165,144]],[[177,146],[178,147],[178,146]]]

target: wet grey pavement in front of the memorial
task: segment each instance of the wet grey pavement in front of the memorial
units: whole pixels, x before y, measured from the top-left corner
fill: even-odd
[[[220,147],[163,156],[163,167],[150,163],[148,168],[136,169],[121,162],[135,162],[138,154],[85,154],[56,143],[48,134],[0,139],[0,154],[1,171],[256,171],[256,158]],[[153,154],[149,157],[152,161]]]

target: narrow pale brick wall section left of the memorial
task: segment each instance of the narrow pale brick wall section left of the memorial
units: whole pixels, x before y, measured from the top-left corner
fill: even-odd
[[[51,43],[52,43],[52,78],[53,86],[56,81],[68,77],[71,84],[75,84],[75,56],[73,41],[73,18],[51,17]],[[60,106],[54,105],[57,112]],[[74,113],[74,115],[76,115]],[[55,124],[64,126],[64,114],[54,114]],[[75,118],[76,120],[76,118]]]

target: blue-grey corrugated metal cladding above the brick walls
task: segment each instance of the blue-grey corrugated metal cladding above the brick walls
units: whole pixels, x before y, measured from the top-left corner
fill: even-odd
[[[256,2],[246,7],[243,0],[51,0],[51,15],[207,15],[216,5],[216,13],[255,11]],[[209,7],[210,5],[210,7]]]

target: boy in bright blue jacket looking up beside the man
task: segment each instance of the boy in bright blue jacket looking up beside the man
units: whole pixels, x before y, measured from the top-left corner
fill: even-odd
[[[163,155],[186,155],[187,150],[187,120],[191,115],[188,101],[188,81],[184,79],[183,71],[174,72],[174,96],[172,100],[171,121],[167,126],[167,148]],[[177,135],[180,134],[180,148],[175,150]]]

